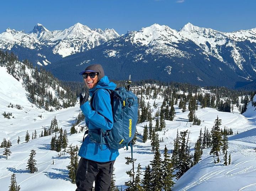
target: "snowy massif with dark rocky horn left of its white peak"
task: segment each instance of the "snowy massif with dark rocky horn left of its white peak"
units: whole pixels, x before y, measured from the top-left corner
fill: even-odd
[[[37,38],[49,46],[53,46],[53,53],[63,57],[86,51],[99,46],[106,41],[119,37],[114,29],[90,29],[80,23],[65,30],[47,30],[42,24],[37,24],[28,35]]]

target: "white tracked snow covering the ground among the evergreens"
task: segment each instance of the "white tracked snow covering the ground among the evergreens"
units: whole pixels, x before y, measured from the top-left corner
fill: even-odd
[[[79,104],[75,107],[62,109],[55,112],[47,112],[44,109],[39,109],[27,100],[27,92],[23,89],[21,82],[17,81],[10,74],[6,72],[4,67],[0,67],[0,113],[12,112],[15,117],[11,119],[0,116],[0,141],[5,137],[12,141],[11,156],[8,160],[2,156],[4,148],[0,148],[0,185],[3,190],[7,190],[10,185],[10,178],[12,173],[16,174],[17,184],[21,186],[21,190],[75,190],[76,186],[71,184],[68,178],[69,155],[59,157],[55,151],[50,151],[49,144],[52,136],[40,137],[42,129],[49,127],[51,120],[56,116],[60,128],[66,129],[69,133],[71,124],[74,123],[75,118],[80,112]],[[201,89],[209,92],[209,90]],[[186,92],[187,93],[187,92]],[[152,106],[154,101],[161,106],[163,98],[146,99],[145,103],[150,103]],[[256,101],[256,96],[254,97]],[[9,103],[19,104],[24,108],[18,110],[17,108],[8,108]],[[153,114],[158,108],[153,109]],[[159,138],[164,140],[160,142],[160,150],[163,150],[165,145],[170,150],[173,148],[173,140],[176,137],[177,130],[190,130],[190,141],[193,145],[198,136],[200,129],[204,127],[210,130],[214,125],[214,120],[219,117],[222,119],[221,128],[224,126],[238,131],[238,135],[229,136],[229,150],[231,153],[231,165],[223,165],[223,155],[220,156],[221,162],[219,164],[213,163],[213,156],[209,155],[210,148],[203,150],[202,161],[194,165],[188,172],[186,172],[179,180],[177,180],[172,190],[255,190],[255,173],[256,173],[256,153],[253,148],[256,147],[256,115],[255,108],[248,104],[247,111],[241,115],[238,113],[236,107],[234,113],[219,112],[213,108],[198,108],[196,116],[202,120],[200,126],[192,125],[188,122],[188,111],[182,113],[181,109],[175,105],[176,117],[174,121],[166,120],[166,129],[158,131]],[[38,117],[42,114],[42,118]],[[144,122],[137,125],[138,133],[143,133]],[[79,124],[84,126],[84,122]],[[155,122],[153,122],[155,125]],[[79,126],[76,126],[79,130]],[[37,139],[30,140],[25,143],[25,134],[32,135],[36,129]],[[20,136],[21,143],[17,145],[16,141]],[[57,134],[58,136],[58,134]],[[69,145],[81,145],[83,133],[73,134],[68,136]],[[138,163],[144,168],[153,159],[151,152],[150,140],[143,143],[140,137],[133,148],[133,157],[137,159],[135,167]],[[191,147],[192,148],[192,147]],[[28,155],[30,151],[36,150],[36,161],[38,172],[34,174],[28,173],[26,170]],[[131,168],[131,165],[126,165],[125,157],[130,157],[130,150],[119,150],[120,155],[114,163],[116,174],[116,185],[119,188],[122,185],[124,189],[124,182],[129,180],[126,170]],[[52,161],[54,160],[54,165]],[[31,184],[33,182],[33,184]]]

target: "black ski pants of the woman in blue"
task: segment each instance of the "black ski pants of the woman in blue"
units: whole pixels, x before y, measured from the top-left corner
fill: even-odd
[[[114,161],[96,162],[85,158],[80,159],[76,172],[76,191],[110,191]]]

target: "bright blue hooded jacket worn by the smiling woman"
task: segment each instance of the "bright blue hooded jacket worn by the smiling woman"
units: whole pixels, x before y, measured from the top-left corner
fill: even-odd
[[[113,127],[110,94],[106,89],[114,90],[116,89],[116,84],[110,82],[108,77],[104,76],[94,88],[89,90],[90,96],[97,90],[91,103],[95,111],[91,108],[89,101],[80,106],[89,129],[110,130]],[[119,152],[117,149],[109,148],[105,144],[102,145],[101,150],[100,144],[91,142],[89,137],[86,136],[78,155],[92,161],[108,162],[115,160]]]

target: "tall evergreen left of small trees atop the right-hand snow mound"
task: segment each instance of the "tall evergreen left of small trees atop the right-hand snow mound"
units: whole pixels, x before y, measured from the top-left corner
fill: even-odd
[[[219,159],[219,151],[220,147],[222,146],[222,136],[220,133],[220,125],[221,119],[217,116],[215,119],[214,126],[212,128],[212,149],[210,150],[210,154],[215,154]]]

